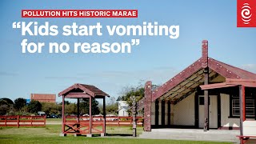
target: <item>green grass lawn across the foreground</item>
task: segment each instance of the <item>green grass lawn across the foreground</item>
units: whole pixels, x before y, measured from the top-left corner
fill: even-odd
[[[1,127],[0,128],[0,143],[90,143],[90,144],[116,144],[116,143],[139,143],[139,144],[161,144],[161,143],[174,143],[174,144],[214,144],[224,142],[192,142],[192,141],[176,141],[176,140],[154,140],[154,139],[141,139],[132,138],[130,136],[122,136],[132,134],[132,129],[129,126],[107,126],[106,138],[94,137],[86,138],[85,136],[74,137],[68,135],[67,137],[60,137],[60,125],[48,125],[46,127]],[[142,127],[138,127],[138,134],[142,133]]]

